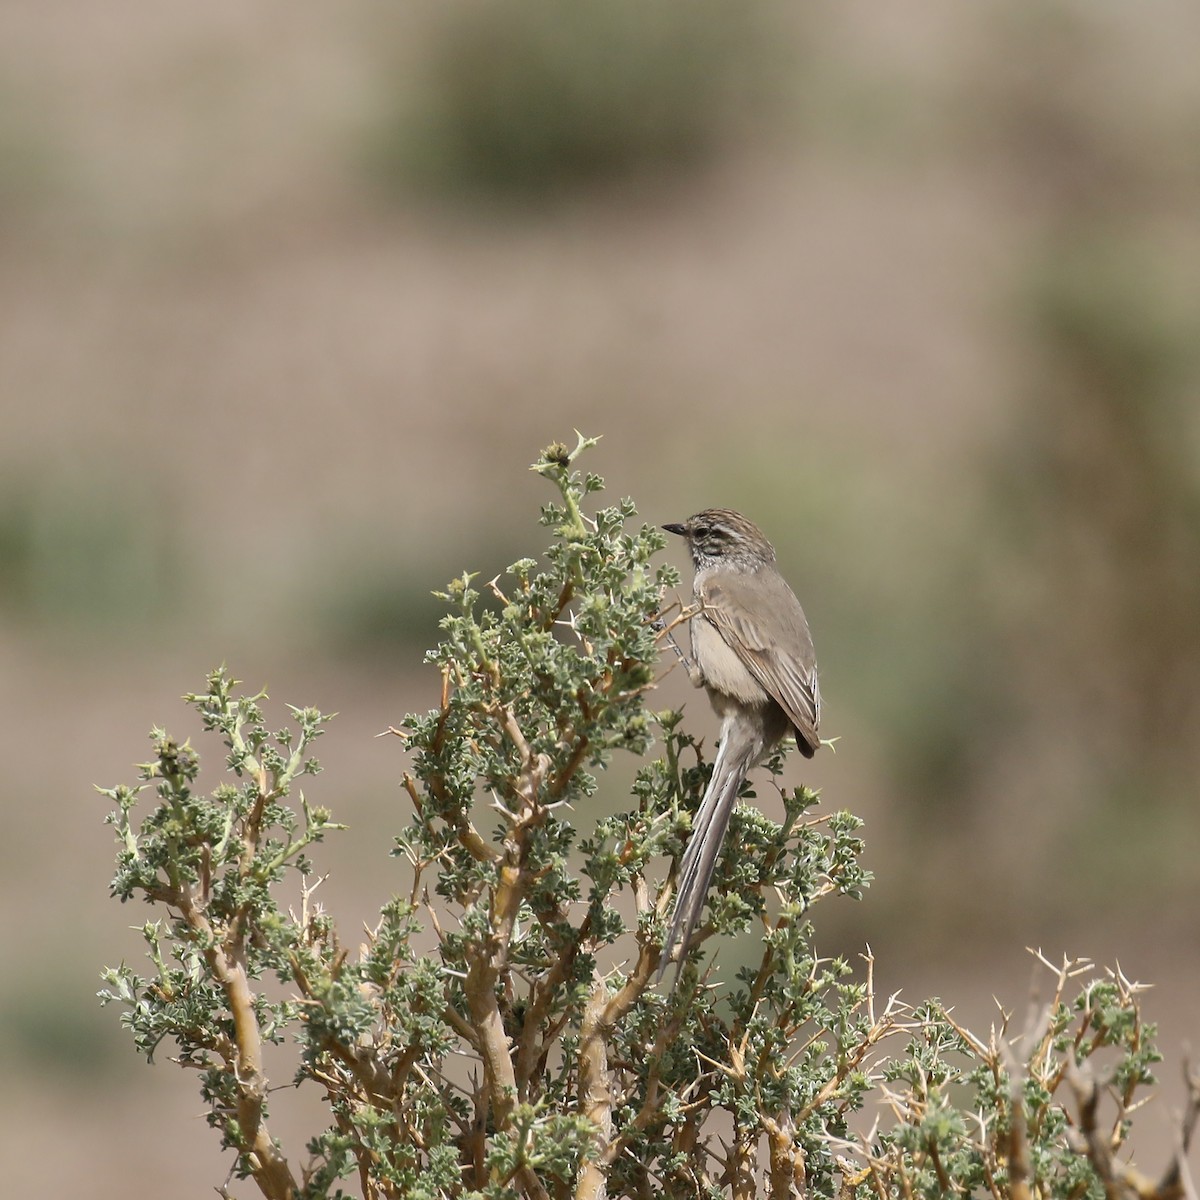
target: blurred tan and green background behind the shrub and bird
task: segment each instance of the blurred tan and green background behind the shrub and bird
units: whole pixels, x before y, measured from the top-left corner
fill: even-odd
[[[14,1194],[224,1171],[94,1000],[149,913],[92,785],[221,661],[340,712],[306,792],[353,943],[407,886],[373,734],[436,703],[430,593],[539,551],[572,428],[646,520],[775,541],[841,738],[790,779],[877,875],[818,944],[984,1030],[1026,947],[1153,980],[1157,1171],[1200,1032],[1198,38],[1183,0],[0,8]]]

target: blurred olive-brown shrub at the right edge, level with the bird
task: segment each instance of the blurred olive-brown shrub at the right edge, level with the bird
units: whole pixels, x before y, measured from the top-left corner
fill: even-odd
[[[1032,259],[1031,378],[997,458],[1025,636],[1080,744],[1151,802],[1200,766],[1200,305],[1174,274],[1109,228]]]

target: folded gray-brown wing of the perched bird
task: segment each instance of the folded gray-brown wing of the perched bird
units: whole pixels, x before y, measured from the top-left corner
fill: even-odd
[[[800,750],[821,744],[821,690],[812,636],[799,600],[781,575],[709,576],[697,588],[709,620],[746,670],[796,726]],[[763,618],[748,616],[762,612]],[[764,629],[764,626],[767,626]]]

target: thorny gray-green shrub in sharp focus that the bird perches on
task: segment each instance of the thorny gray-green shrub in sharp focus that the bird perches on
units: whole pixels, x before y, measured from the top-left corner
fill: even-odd
[[[937,1003],[877,1004],[870,958],[857,974],[821,958],[808,917],[868,883],[859,821],[779,787],[780,758],[767,774],[782,823],[739,808],[680,984],[653,986],[670,864],[709,768],[680,714],[647,706],[678,577],[654,564],[662,535],[630,500],[584,511],[602,487],[575,470],[590,444],[534,466],[558,493],[544,557],[444,595],[440,702],[398,731],[412,816],[395,852],[410,887],[358,954],[310,882],[310,847],[341,827],[294,796],[318,769],[314,709],[271,732],[264,697],[215,672],[187,700],[224,742],[229,778],[199,791],[197,751],[155,730],[142,782],[104,791],[113,894],[161,913],[144,930],[150,973],[109,970],[101,992],[138,1050],[166,1044],[199,1069],[235,1174],[268,1196],[337,1196],[347,1181],[409,1200],[1123,1187],[1134,1176],[1111,1152],[1157,1058],[1136,986],[1085,972],[1072,1008],[1082,967],[1064,965],[1039,1027],[988,1040]],[[628,803],[594,822],[587,802],[617,754],[641,764]],[[703,971],[706,942],[751,929],[754,967]],[[304,1150],[268,1128],[286,1038],[301,1046],[296,1085],[329,1109]],[[1098,1052],[1111,1133],[1094,1103],[1086,1116]]]

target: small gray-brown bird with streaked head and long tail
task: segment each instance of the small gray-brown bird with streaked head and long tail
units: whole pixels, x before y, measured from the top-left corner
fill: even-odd
[[[691,552],[697,611],[689,622],[691,660],[684,664],[721,721],[659,958],[656,978],[674,960],[678,982],[742,784],[788,733],[805,758],[816,754],[821,690],[804,610],[762,530],[732,509],[706,509],[662,528]]]

